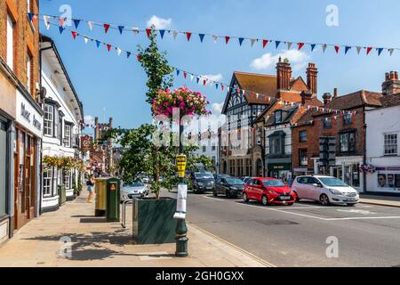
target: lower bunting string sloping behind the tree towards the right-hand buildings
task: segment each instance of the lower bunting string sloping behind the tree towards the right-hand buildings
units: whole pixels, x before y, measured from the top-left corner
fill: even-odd
[[[48,21],[49,25],[54,25],[54,26],[59,26],[56,23],[53,23],[51,21]],[[60,34],[63,34],[64,30],[68,29],[71,33],[71,36],[73,37],[74,40],[76,40],[77,37],[83,37],[84,38],[84,43],[88,44],[89,41],[94,42],[97,46],[97,48],[100,48],[100,45],[104,45],[106,46],[108,53],[111,52],[111,50],[116,50],[116,53],[118,56],[120,56],[122,53],[126,54],[126,58],[129,59],[131,56],[136,56],[137,61],[140,61],[140,54],[136,54],[132,51],[126,51],[116,45],[111,45],[105,42],[102,42],[98,39],[86,36],[84,34],[78,33],[76,30],[70,29],[70,28],[65,28],[62,26],[59,26],[59,30],[60,30]],[[176,68],[176,67],[172,67],[172,69],[175,70],[176,72],[176,76],[177,77],[184,77],[185,79],[188,79],[188,77],[190,78],[190,81],[193,81],[196,78],[196,84],[203,84],[205,85],[211,85],[211,86],[215,86],[216,90],[220,90],[221,92],[227,91],[230,92],[231,91],[231,87],[228,84],[219,82],[219,81],[214,81],[212,79],[209,79],[207,77],[204,77],[202,75],[198,75],[196,73],[193,72],[189,72],[187,70],[184,69],[180,69],[180,68]],[[321,111],[321,112],[325,112],[325,113],[332,113],[335,115],[344,115],[344,114],[354,114],[354,111],[347,111],[347,110],[333,110],[333,109],[329,109],[329,108],[325,108],[325,107],[319,107],[319,106],[313,106],[313,105],[301,105],[300,102],[288,102],[288,101],[284,101],[282,99],[276,99],[275,97],[271,97],[265,94],[259,94],[259,93],[254,93],[251,90],[244,90],[241,88],[235,88],[233,89],[233,91],[236,92],[237,95],[255,95],[257,97],[258,100],[262,100],[262,101],[268,101],[268,102],[278,102],[280,104],[284,104],[284,105],[291,105],[292,107],[305,107],[308,110],[316,110],[316,111]]]

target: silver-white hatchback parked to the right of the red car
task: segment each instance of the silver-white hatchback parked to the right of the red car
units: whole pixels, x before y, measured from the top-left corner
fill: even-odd
[[[299,176],[294,180],[292,190],[298,200],[315,200],[324,206],[330,204],[354,206],[360,199],[356,189],[332,176]]]

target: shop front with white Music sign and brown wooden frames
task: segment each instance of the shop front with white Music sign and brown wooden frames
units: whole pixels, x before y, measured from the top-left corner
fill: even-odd
[[[17,90],[14,134],[14,226],[20,229],[40,208],[40,157],[43,112],[33,99]]]

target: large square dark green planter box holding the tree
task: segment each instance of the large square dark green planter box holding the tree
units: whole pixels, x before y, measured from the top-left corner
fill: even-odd
[[[133,238],[138,244],[175,243],[176,199],[133,199]]]

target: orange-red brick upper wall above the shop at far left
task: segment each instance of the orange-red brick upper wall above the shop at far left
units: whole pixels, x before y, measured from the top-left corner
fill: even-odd
[[[39,12],[38,0],[30,0],[31,12]],[[14,53],[13,70],[23,85],[27,82],[27,58],[31,53],[31,89],[32,96],[36,98],[35,85],[39,82],[39,23],[34,20],[34,28],[28,20],[27,0],[1,0],[0,1],[0,57],[7,60],[7,13],[14,20]]]

